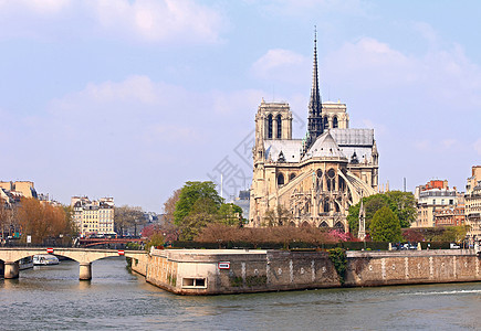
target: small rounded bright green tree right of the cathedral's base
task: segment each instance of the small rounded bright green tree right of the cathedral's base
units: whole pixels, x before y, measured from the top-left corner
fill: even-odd
[[[402,241],[399,220],[390,207],[384,206],[374,214],[370,222],[370,237],[374,242]]]

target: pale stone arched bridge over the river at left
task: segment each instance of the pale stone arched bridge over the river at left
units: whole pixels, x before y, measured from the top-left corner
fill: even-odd
[[[147,253],[144,250],[117,250],[117,249],[93,249],[93,248],[35,248],[35,247],[15,247],[0,248],[0,259],[4,261],[4,278],[19,277],[19,260],[38,254],[53,254],[65,256],[80,264],[80,279],[92,279],[92,263],[94,260],[114,257],[126,256],[133,259],[147,259]]]

